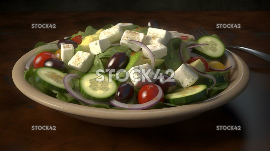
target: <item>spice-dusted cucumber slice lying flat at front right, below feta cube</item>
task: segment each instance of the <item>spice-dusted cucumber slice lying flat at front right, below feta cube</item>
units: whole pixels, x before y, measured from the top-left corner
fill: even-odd
[[[173,93],[166,94],[164,99],[167,101],[167,103],[184,104],[200,99],[207,93],[208,91],[206,85],[195,85],[187,88],[177,89]]]

